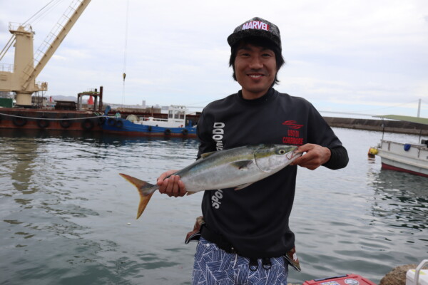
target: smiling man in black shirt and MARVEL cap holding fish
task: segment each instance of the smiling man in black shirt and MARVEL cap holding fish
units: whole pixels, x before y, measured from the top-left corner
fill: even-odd
[[[198,122],[198,157],[205,152],[260,143],[299,145],[293,165],[240,191],[205,191],[205,224],[195,254],[193,284],[287,284],[287,252],[295,246],[288,219],[297,165],[345,167],[347,151],[307,100],[278,93],[284,63],[280,31],[253,18],[228,37],[238,93],[208,104]],[[175,170],[158,178],[159,191],[178,197],[185,185]],[[288,260],[288,261],[287,261]],[[291,264],[291,263],[290,263]]]

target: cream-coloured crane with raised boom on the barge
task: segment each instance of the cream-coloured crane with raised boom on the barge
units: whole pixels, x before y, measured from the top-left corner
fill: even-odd
[[[36,54],[33,49],[34,31],[31,25],[9,23],[12,37],[0,52],[0,60],[10,46],[14,45],[14,65],[0,64],[0,91],[16,93],[16,105],[30,107],[31,95],[34,92],[48,89],[48,83],[38,83],[36,77],[39,76],[90,2],[91,0],[73,0],[44,42],[41,43]]]

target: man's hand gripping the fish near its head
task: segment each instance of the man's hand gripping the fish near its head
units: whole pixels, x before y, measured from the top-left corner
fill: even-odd
[[[291,165],[300,165],[310,170],[316,170],[320,165],[325,164],[325,162],[330,160],[330,156],[332,155],[332,152],[327,147],[313,145],[312,143],[301,145],[295,152],[306,153],[297,158]]]

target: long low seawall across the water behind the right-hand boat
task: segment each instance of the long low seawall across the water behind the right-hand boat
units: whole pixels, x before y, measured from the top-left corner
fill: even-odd
[[[399,120],[372,120],[323,117],[330,127],[350,128],[357,130],[377,130],[389,133],[405,133],[413,135],[428,135],[428,125],[404,122]]]

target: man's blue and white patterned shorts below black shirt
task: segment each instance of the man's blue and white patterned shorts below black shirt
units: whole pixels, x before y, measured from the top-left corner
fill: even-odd
[[[264,269],[262,259],[258,259],[258,269],[251,271],[248,258],[229,254],[201,237],[196,247],[193,285],[286,285],[288,266],[284,258],[271,258],[270,262],[270,269]]]

